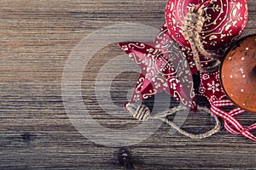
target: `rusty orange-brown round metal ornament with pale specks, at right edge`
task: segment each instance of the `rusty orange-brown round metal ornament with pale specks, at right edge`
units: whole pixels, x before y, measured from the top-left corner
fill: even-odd
[[[227,96],[243,110],[256,113],[256,34],[228,50],[220,77]]]

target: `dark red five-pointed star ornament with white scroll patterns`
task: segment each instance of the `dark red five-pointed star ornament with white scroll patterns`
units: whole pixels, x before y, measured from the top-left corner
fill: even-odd
[[[154,42],[119,42],[129,57],[142,68],[129,102],[148,99],[165,91],[196,111],[194,83],[189,63],[165,27]]]

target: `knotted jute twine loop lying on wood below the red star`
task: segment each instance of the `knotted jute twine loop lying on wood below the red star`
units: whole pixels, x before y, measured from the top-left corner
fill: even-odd
[[[164,111],[164,112],[158,113],[154,116],[151,115],[151,111],[149,110],[148,106],[146,106],[146,105],[128,103],[127,105],[125,105],[125,108],[127,109],[127,111],[130,111],[131,115],[134,118],[136,118],[137,120],[147,121],[148,118],[159,119],[162,122],[166,122],[171,127],[176,129],[177,132],[183,134],[184,136],[189,137],[190,139],[204,139],[209,136],[212,136],[212,134],[214,134],[214,133],[218,133],[218,131],[220,129],[220,122],[218,121],[218,117],[215,116],[214,114],[212,114],[212,112],[210,110],[208,110],[206,107],[198,107],[198,109],[209,113],[214,118],[216,124],[215,124],[215,127],[212,128],[212,130],[207,131],[206,133],[201,133],[201,134],[188,133],[188,132],[184,131],[183,129],[181,129],[181,127],[178,127],[177,124],[175,124],[174,122],[170,121],[167,118],[167,116],[171,116],[171,115],[175,114],[177,111],[186,110],[187,109],[186,107],[177,106],[177,107],[172,108],[169,111]]]

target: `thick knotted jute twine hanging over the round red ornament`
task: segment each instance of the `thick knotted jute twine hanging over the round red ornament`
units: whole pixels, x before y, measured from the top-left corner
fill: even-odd
[[[206,3],[191,7],[189,9],[189,13],[186,14],[183,20],[183,25],[181,26],[181,33],[183,34],[183,37],[190,43],[195,60],[195,66],[201,72],[217,71],[220,65],[220,60],[217,59],[216,55],[208,53],[201,42],[201,31],[206,21],[204,16],[204,7],[210,2],[211,1],[207,1]],[[199,53],[209,59],[214,59],[215,63],[207,67],[202,67]]]

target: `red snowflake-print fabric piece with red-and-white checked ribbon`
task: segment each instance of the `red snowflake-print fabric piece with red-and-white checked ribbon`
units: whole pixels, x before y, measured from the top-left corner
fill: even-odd
[[[247,139],[256,141],[255,135],[251,132],[256,129],[256,123],[251,126],[244,127],[241,122],[236,120],[235,116],[241,115],[245,111],[236,107],[233,102],[226,97],[224,89],[222,88],[219,71],[213,73],[200,73],[201,84],[199,90],[196,92],[198,96],[207,98],[211,105],[211,111],[224,119],[224,127],[227,131],[233,134],[241,134]],[[224,111],[223,108],[235,106],[231,111]]]

